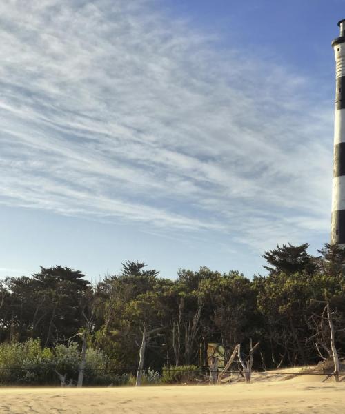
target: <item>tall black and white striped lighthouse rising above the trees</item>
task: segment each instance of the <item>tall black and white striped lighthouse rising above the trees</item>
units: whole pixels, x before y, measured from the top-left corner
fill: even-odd
[[[345,19],[339,21],[335,52],[335,122],[331,244],[345,246]]]

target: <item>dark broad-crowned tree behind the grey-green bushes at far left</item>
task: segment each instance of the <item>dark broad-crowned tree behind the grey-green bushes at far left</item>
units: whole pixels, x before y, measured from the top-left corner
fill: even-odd
[[[83,326],[81,302],[90,282],[79,270],[41,267],[32,277],[7,279],[11,317],[19,339],[39,337],[45,346],[68,339]]]

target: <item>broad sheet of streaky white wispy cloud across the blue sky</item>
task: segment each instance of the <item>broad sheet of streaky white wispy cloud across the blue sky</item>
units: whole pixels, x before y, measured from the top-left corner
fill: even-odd
[[[311,80],[153,1],[3,2],[0,34],[1,203],[254,248],[327,230],[333,117]]]

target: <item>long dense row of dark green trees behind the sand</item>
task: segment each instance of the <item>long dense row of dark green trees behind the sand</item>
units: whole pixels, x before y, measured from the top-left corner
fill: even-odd
[[[342,355],[345,252],[325,244],[313,257],[307,248],[287,244],[266,252],[268,275],[251,280],[237,271],[206,267],[182,269],[176,280],[164,279],[139,262],[123,264],[119,275],[104,277],[96,286],[81,272],[61,266],[41,268],[32,277],[7,277],[0,290],[0,347],[37,339],[42,350],[58,347],[61,353],[74,343],[79,359],[82,346],[91,350],[89,359],[99,353],[104,373],[130,374],[137,371],[145,328],[151,331],[146,372],[149,367],[159,373],[163,367],[205,367],[209,342],[221,344],[228,359],[237,344],[245,353],[250,339],[260,342],[256,369],[311,364],[329,356],[322,329],[328,303],[336,314]]]

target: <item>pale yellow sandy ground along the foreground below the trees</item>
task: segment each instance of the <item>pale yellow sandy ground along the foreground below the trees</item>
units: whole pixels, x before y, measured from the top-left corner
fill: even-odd
[[[345,382],[315,377],[223,386],[0,388],[0,413],[331,414],[345,412]]]

